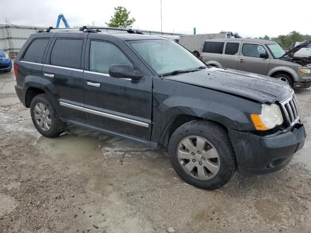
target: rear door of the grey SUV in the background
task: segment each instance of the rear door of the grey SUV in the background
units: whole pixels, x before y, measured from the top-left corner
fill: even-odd
[[[239,49],[241,41],[226,41],[225,50],[222,55],[222,66],[230,69],[237,69],[239,59]]]

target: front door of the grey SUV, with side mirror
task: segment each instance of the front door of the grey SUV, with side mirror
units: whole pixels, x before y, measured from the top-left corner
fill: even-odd
[[[268,58],[260,58],[260,53],[267,53]],[[270,57],[270,53],[263,44],[243,41],[238,59],[238,70],[266,75],[269,69]]]

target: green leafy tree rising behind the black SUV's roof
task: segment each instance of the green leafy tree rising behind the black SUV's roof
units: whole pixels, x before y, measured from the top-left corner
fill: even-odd
[[[129,19],[130,13],[123,6],[115,7],[114,16],[105,24],[112,28],[131,28],[136,19],[134,17]]]

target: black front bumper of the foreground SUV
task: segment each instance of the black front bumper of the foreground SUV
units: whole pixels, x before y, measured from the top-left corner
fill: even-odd
[[[243,175],[266,174],[282,169],[305,142],[303,124],[296,124],[288,132],[259,136],[229,129],[238,169]]]

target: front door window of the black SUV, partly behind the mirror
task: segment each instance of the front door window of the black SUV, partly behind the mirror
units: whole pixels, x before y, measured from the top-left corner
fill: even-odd
[[[104,41],[91,41],[89,52],[89,70],[108,74],[111,64],[128,64],[133,67],[130,60],[115,45]]]

